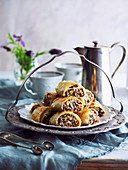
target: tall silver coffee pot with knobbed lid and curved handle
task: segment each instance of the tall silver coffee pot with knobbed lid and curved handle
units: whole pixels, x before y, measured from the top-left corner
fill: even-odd
[[[80,55],[86,56],[86,58],[100,66],[106,74],[113,78],[118,68],[123,63],[127,49],[126,47],[117,42],[111,45],[110,47],[106,46],[99,46],[97,41],[93,41],[92,47],[76,47],[74,48]],[[121,61],[119,62],[118,66],[114,70],[114,72],[110,75],[110,53],[115,48],[120,46],[123,50],[123,55]],[[82,65],[83,65],[83,76],[82,76],[82,85],[91,90],[95,97],[105,105],[111,105],[111,97],[112,97],[112,89],[108,82],[108,79],[103,74],[103,72],[95,67],[93,64],[88,63],[83,57],[81,57]]]

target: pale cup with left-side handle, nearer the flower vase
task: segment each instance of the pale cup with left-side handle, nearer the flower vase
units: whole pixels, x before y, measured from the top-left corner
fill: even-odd
[[[38,95],[39,99],[43,99],[47,91],[55,92],[63,77],[64,73],[58,71],[36,72],[30,77],[29,83],[25,83],[25,89],[32,95]]]

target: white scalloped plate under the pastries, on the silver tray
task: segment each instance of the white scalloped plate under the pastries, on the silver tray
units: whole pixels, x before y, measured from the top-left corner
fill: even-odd
[[[25,105],[24,108],[18,110],[18,113],[22,119],[28,120],[28,121],[33,122],[38,125],[42,125],[43,127],[52,127],[52,128],[59,128],[59,129],[73,129],[73,130],[74,129],[85,129],[85,128],[91,128],[94,126],[98,126],[98,125],[107,123],[108,121],[112,120],[112,118],[116,115],[116,113],[112,112],[110,108],[103,106],[104,110],[105,110],[105,115],[103,117],[99,118],[99,122],[97,122],[93,125],[88,125],[88,126],[66,128],[66,127],[60,127],[60,126],[54,126],[54,125],[47,125],[47,124],[35,122],[34,120],[32,120],[32,117],[31,117],[31,114],[29,113],[29,111],[33,104],[34,103],[31,103],[30,105]]]

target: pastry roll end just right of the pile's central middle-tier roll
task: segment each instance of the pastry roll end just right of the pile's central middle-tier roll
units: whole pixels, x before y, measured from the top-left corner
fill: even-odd
[[[84,102],[84,107],[89,107],[94,100],[94,94],[88,89],[85,90],[86,94],[83,97],[80,97],[80,100]]]

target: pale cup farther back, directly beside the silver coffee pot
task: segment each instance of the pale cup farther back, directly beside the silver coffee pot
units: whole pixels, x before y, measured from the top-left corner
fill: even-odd
[[[57,63],[55,65],[57,71],[64,73],[63,80],[75,81],[79,84],[82,83],[82,64],[78,63]]]

